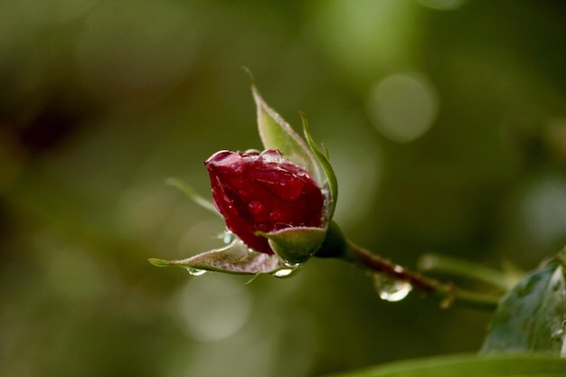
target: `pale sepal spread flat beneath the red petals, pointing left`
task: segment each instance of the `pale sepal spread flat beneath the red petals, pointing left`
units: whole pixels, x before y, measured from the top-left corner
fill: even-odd
[[[193,271],[215,271],[237,275],[275,274],[288,269],[275,255],[250,250],[241,240],[235,240],[225,248],[210,250],[188,259],[148,259],[157,267],[177,266]]]

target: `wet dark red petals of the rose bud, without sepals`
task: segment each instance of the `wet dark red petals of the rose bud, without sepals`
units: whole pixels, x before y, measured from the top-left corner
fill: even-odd
[[[307,170],[278,151],[220,151],[204,165],[216,208],[250,249],[273,254],[268,239],[256,231],[321,226],[325,200],[320,188]]]

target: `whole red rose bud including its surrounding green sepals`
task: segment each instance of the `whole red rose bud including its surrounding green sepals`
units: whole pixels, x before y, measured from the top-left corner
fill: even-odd
[[[195,203],[219,213],[236,235],[221,249],[187,259],[149,259],[158,267],[287,277],[312,257],[342,258],[347,242],[332,221],[338,186],[328,151],[316,146],[301,114],[305,139],[251,85],[264,152],[221,151],[205,163],[209,203],[175,180]],[[283,158],[285,156],[285,158]]]

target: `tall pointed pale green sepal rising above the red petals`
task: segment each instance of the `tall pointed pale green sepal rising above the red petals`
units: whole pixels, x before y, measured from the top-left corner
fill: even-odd
[[[259,137],[261,137],[263,146],[266,149],[278,150],[289,161],[307,169],[315,176],[316,181],[320,182],[320,170],[316,165],[315,157],[285,119],[269,107],[259,94],[250,71],[248,74],[250,75],[251,92],[258,109]]]

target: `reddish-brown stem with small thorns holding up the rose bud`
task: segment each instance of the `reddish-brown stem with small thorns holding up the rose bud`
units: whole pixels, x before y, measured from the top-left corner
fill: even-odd
[[[383,259],[360,248],[352,242],[348,242],[347,249],[354,264],[389,278],[406,281],[412,287],[439,298],[442,308],[448,308],[457,303],[484,310],[495,310],[497,307],[499,297],[470,292],[458,288],[450,282],[443,283],[433,278],[427,278],[420,273],[401,267],[388,259]]]

